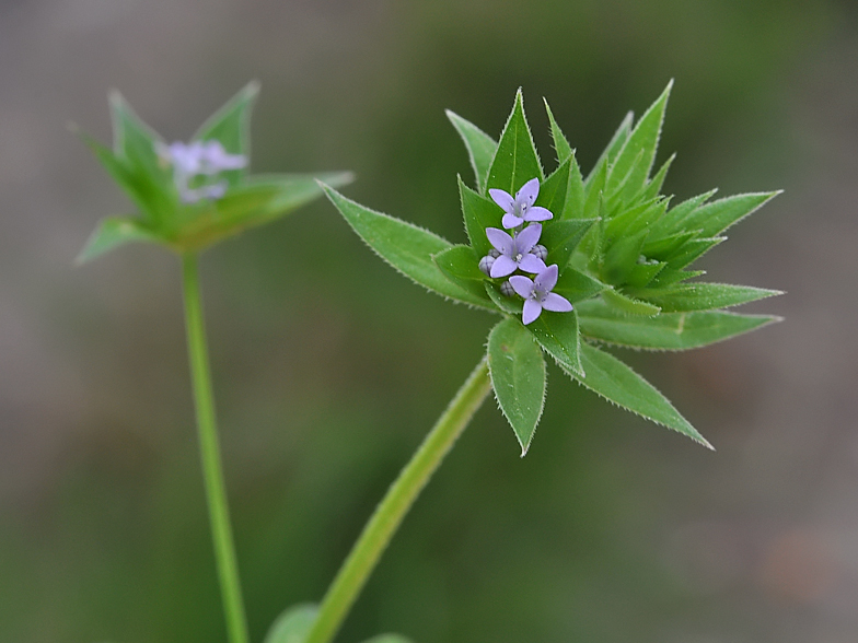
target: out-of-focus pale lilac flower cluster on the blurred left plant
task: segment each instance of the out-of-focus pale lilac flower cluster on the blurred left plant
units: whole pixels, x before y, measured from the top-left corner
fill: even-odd
[[[190,143],[176,141],[170,145],[159,142],[155,152],[173,165],[173,183],[185,203],[221,198],[227,192],[227,182],[220,180],[218,175],[247,165],[246,156],[228,154],[221,142],[213,139]]]

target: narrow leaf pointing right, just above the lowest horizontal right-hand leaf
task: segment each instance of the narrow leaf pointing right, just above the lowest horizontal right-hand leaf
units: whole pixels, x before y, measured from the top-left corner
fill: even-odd
[[[681,283],[669,288],[639,289],[630,294],[660,306],[664,313],[714,311],[784,294],[777,290],[729,283]]]

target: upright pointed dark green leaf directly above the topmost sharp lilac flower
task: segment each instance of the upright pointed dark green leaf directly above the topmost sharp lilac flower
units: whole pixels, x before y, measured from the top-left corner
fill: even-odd
[[[534,177],[542,183],[542,165],[524,117],[524,100],[520,89],[491,160],[486,187],[499,188],[514,196],[521,186]]]

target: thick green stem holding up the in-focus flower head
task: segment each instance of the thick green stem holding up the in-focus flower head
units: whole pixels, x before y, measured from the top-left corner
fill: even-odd
[[[327,591],[305,643],[329,643],[379,562],[394,533],[441,460],[491,389],[484,358],[426,436],[420,448],[367,523]]]

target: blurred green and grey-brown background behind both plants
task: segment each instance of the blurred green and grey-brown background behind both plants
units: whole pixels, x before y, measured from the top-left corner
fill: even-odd
[[[178,261],[84,267],[129,202],[67,130],[118,89],[169,140],[248,80],[256,172],[463,241],[443,109],[497,137],[523,86],[590,168],[669,79],[677,198],[786,188],[703,260],[785,323],[625,353],[718,448],[549,370],[529,455],[487,402],[338,641],[858,638],[858,10],[843,0],[0,2],[0,641],[225,641]],[[324,201],[208,252],[204,294],[254,642],[317,600],[494,317],[382,264]]]

